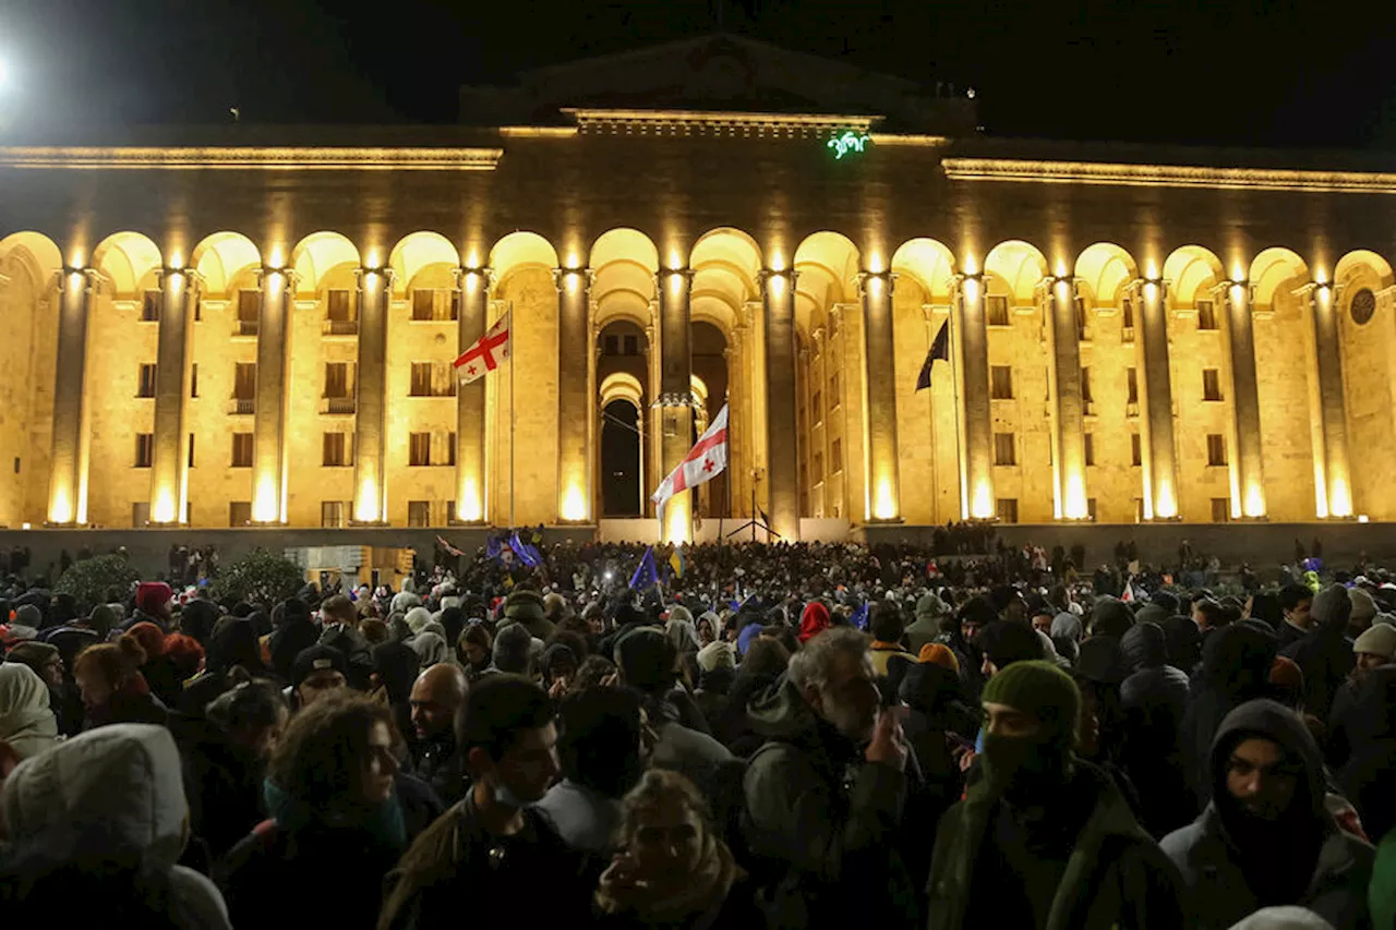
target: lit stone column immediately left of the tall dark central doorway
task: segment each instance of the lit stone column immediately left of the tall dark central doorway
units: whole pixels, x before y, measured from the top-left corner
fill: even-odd
[[[557,519],[592,519],[591,272],[557,268]]]

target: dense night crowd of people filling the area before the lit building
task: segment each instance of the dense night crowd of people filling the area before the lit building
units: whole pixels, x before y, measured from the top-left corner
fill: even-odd
[[[517,549],[275,603],[14,580],[0,915],[1396,930],[1379,568]]]

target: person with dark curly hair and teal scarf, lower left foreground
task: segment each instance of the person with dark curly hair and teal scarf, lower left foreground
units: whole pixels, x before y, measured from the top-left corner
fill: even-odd
[[[420,782],[403,790],[396,739],[388,708],[362,697],[318,700],[292,719],[262,788],[271,818],[215,870],[235,926],[300,930],[300,909],[279,902],[307,888],[320,891],[324,926],[373,924],[384,876],[441,811]]]

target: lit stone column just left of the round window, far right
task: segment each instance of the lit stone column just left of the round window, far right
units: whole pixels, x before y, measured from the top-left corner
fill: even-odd
[[[1315,436],[1314,471],[1318,482],[1318,515],[1347,518],[1353,510],[1353,480],[1347,458],[1347,401],[1343,397],[1343,352],[1337,332],[1337,293],[1333,285],[1308,288],[1314,317],[1314,383],[1311,415]]]

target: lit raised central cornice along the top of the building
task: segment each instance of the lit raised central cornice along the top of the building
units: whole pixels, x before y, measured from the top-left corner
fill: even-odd
[[[867,133],[881,116],[836,113],[718,113],[708,110],[610,110],[564,108],[584,134],[745,135],[817,138],[832,133]]]

